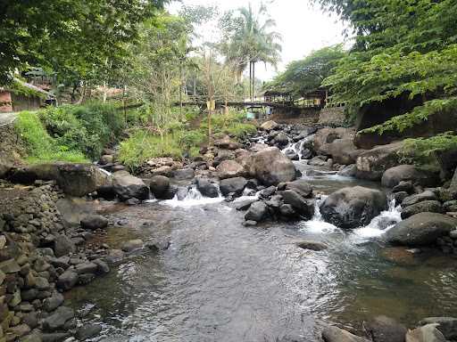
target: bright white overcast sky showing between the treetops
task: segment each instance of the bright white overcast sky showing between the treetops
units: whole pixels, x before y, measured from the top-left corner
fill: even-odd
[[[258,8],[261,0],[252,0],[254,8]],[[263,1],[269,3],[270,1]],[[220,12],[237,9],[249,4],[246,0],[182,0],[183,4],[216,4]],[[170,12],[179,11],[181,4],[169,5]],[[327,45],[344,42],[342,22],[337,17],[330,17],[328,13],[321,12],[320,8],[313,6],[308,0],[274,0],[268,5],[270,16],[276,20],[278,31],[282,37],[282,61],[278,70],[285,68],[288,62],[303,58],[312,50]],[[199,33],[205,39],[212,40],[215,32],[212,28],[199,28]],[[276,70],[264,65],[256,68],[256,77],[268,80],[276,74]]]

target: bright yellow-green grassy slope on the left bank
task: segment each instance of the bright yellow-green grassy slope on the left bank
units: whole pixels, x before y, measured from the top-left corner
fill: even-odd
[[[68,146],[54,140],[46,132],[45,126],[35,113],[22,111],[15,121],[15,129],[26,143],[29,162],[87,162],[81,151],[71,150]]]

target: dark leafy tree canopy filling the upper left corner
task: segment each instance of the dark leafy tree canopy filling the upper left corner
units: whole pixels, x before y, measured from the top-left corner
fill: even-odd
[[[0,84],[15,69],[40,66],[58,77],[86,76],[126,53],[137,24],[166,0],[53,0],[0,2]]]

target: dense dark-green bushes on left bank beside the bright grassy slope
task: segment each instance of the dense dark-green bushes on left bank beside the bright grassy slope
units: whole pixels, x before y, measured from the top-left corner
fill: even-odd
[[[54,140],[90,159],[100,157],[109,142],[120,137],[122,114],[111,104],[88,103],[80,106],[49,107],[38,112]]]

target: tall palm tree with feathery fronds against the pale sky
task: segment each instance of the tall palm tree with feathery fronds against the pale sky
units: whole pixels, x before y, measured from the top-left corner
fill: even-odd
[[[281,36],[270,30],[276,26],[270,19],[267,7],[262,4],[255,14],[251,4],[238,9],[234,19],[234,33],[223,51],[227,60],[233,63],[237,72],[238,83],[249,65],[249,96],[253,101],[255,89],[255,63],[262,61],[276,67],[280,59]]]

